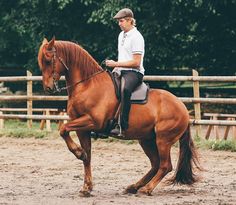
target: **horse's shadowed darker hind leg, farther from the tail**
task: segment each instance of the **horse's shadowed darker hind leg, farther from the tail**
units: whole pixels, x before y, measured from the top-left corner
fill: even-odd
[[[145,154],[150,159],[152,167],[142,179],[140,179],[135,184],[128,186],[125,190],[125,193],[137,193],[140,187],[145,186],[156,175],[159,168],[159,155],[155,138],[150,140],[140,140],[139,144],[143,148]]]

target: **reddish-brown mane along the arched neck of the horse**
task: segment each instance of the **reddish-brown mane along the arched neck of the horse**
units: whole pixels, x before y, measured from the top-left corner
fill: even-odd
[[[61,57],[69,69],[79,69],[82,78],[88,78],[101,66],[94,58],[80,45],[69,41],[55,41],[55,48],[58,57]]]

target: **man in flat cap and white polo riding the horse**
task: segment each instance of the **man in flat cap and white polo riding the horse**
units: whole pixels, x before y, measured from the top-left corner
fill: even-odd
[[[113,18],[118,21],[122,30],[118,37],[118,61],[106,60],[106,65],[114,68],[112,72],[121,73],[120,126],[125,131],[129,126],[131,94],[143,80],[144,39],[135,27],[132,10],[121,9]],[[116,127],[111,133],[121,135],[121,129]]]

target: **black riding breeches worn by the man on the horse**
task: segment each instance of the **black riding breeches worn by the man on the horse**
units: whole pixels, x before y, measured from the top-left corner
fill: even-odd
[[[143,75],[136,71],[121,71],[121,115],[120,126],[123,130],[129,127],[130,98],[132,92],[141,85]]]

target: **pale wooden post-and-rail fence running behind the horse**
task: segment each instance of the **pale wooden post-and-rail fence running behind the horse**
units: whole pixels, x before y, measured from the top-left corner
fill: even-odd
[[[64,77],[61,80],[65,80]],[[66,101],[67,96],[38,96],[33,95],[33,82],[42,81],[41,76],[32,76],[27,71],[27,76],[0,77],[0,82],[27,81],[27,95],[0,95],[1,101],[27,101],[27,114],[5,114],[0,113],[0,119],[27,119],[28,127],[32,127],[32,120],[69,120],[66,115],[33,115],[33,101]],[[232,98],[201,98],[200,82],[236,82],[236,76],[199,76],[196,70],[192,71],[192,76],[144,76],[144,81],[191,81],[193,83],[193,97],[179,97],[184,103],[194,104],[194,119],[190,123],[196,126],[196,135],[201,135],[201,125],[223,125],[236,126],[235,120],[202,120],[201,103],[210,104],[236,104],[236,99]]]

